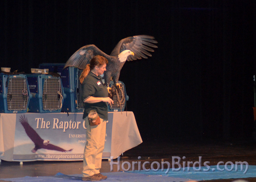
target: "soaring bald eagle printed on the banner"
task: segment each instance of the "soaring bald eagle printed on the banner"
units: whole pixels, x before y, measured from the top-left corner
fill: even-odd
[[[41,137],[39,137],[37,132],[29,125],[29,123],[27,122],[27,118],[25,118],[25,116],[20,116],[19,122],[24,127],[27,136],[29,136],[29,138],[35,144],[35,148],[31,150],[33,153],[35,153],[38,149],[57,150],[61,152],[67,152],[67,151],[73,150],[73,149],[64,150],[58,146],[50,144],[49,140],[43,140]]]

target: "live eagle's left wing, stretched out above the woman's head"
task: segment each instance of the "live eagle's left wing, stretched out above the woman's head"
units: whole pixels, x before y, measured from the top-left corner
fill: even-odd
[[[67,61],[64,68],[68,66],[74,66],[81,70],[83,70],[86,64],[89,64],[90,60],[96,56],[100,55],[109,60],[110,56],[102,52],[95,45],[86,45],[77,50]]]

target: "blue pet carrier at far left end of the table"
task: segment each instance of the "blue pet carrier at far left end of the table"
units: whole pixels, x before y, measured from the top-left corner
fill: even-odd
[[[27,112],[30,98],[26,75],[0,74],[0,112]]]

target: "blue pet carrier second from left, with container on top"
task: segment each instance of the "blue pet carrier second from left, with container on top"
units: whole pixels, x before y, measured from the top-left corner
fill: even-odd
[[[32,95],[29,112],[61,112],[65,94],[61,78],[51,75],[27,74]]]

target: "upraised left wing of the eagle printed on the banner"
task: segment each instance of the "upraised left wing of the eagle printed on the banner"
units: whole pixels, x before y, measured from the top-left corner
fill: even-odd
[[[27,136],[35,143],[42,143],[44,140],[37,134],[37,132],[29,125],[25,116],[20,116],[19,122],[24,127]]]

